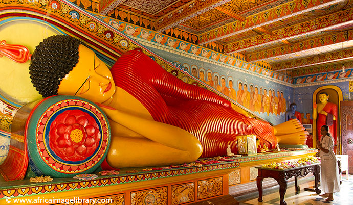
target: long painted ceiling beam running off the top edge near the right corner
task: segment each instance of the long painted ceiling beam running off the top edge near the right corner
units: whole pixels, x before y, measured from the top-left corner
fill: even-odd
[[[264,25],[268,25],[280,20],[284,20],[308,11],[327,7],[331,4],[341,2],[343,0],[313,0],[302,1],[294,0],[292,2],[271,8],[267,11],[247,17],[244,21],[236,21],[229,23],[224,27],[219,27],[209,32],[205,32],[199,36],[199,45],[209,42],[222,40],[249,30],[253,30]],[[226,27],[226,29],[225,29]]]

